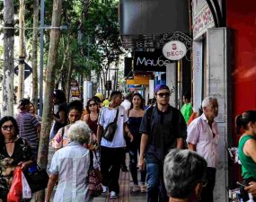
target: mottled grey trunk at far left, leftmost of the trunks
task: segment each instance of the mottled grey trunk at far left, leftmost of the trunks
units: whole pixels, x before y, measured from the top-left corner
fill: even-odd
[[[14,75],[14,4],[13,0],[4,0],[4,76],[2,116],[13,116],[13,75]]]

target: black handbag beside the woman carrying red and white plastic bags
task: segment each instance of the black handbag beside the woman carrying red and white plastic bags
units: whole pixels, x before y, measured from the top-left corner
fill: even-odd
[[[31,187],[31,192],[34,193],[41,189],[46,189],[48,186],[49,175],[45,169],[41,169],[39,165],[36,165],[36,171],[29,172],[26,178]]]

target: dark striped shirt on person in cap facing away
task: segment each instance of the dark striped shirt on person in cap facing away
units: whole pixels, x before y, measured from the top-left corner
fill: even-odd
[[[40,126],[39,120],[31,115],[31,113],[27,111],[22,111],[16,117],[20,136],[30,143],[33,149],[38,149],[39,147],[39,136],[37,132],[37,127]]]

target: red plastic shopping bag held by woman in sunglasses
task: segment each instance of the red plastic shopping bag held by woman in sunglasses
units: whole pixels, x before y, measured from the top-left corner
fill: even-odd
[[[19,202],[22,198],[22,168],[17,167],[13,174],[13,183],[7,195],[7,202]]]

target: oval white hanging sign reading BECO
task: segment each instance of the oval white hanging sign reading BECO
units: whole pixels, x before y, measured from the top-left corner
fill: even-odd
[[[171,60],[179,60],[186,56],[187,48],[179,40],[172,40],[163,46],[163,56]]]

